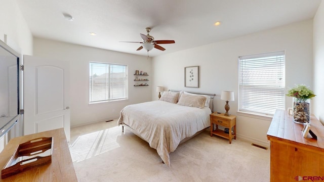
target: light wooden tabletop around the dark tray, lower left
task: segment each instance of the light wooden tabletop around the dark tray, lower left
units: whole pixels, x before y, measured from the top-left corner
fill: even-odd
[[[4,168],[19,144],[40,137],[53,137],[52,162],[0,179],[0,181],[77,181],[63,128],[12,139],[0,154],[0,168]]]

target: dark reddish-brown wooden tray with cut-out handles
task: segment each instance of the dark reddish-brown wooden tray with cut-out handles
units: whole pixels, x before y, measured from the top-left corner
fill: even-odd
[[[20,144],[2,169],[1,178],[52,162],[52,150],[53,137],[37,138]]]

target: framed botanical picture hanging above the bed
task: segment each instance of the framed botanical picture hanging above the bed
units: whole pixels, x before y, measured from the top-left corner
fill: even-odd
[[[199,87],[199,66],[189,66],[184,68],[184,86]]]

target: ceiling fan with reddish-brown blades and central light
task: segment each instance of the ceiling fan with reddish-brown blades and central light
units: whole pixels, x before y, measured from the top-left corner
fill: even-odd
[[[144,48],[147,52],[151,51],[153,48],[156,48],[161,51],[165,51],[166,49],[164,49],[158,44],[175,43],[174,40],[154,40],[154,37],[149,34],[150,31],[151,28],[147,27],[146,28],[147,35],[140,33],[143,39],[142,42],[133,42],[133,41],[121,41],[121,42],[142,43],[141,47],[139,47],[136,51],[139,51]]]

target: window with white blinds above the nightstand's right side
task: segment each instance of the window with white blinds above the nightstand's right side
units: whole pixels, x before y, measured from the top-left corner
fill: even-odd
[[[238,59],[238,110],[273,115],[285,109],[285,52]]]

